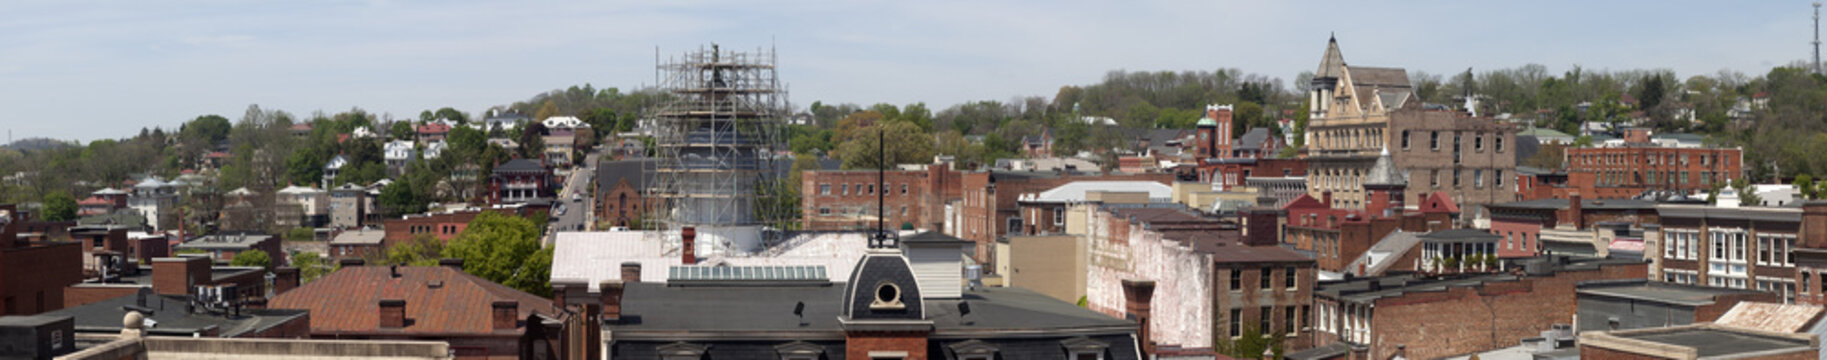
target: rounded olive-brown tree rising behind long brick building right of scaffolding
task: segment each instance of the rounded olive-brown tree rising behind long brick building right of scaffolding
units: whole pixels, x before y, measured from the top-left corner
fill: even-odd
[[[879,157],[879,152],[886,146],[886,164]],[[893,164],[923,164],[930,163],[934,154],[932,135],[919,132],[917,126],[904,121],[884,121],[875,126],[855,132],[850,141],[837,146],[839,159],[844,161],[844,168],[888,168]]]

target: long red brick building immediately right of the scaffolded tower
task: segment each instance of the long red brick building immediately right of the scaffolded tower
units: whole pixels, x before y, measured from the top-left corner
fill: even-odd
[[[923,170],[808,170],[800,175],[800,208],[806,230],[875,228],[877,196],[888,212],[886,225],[937,230],[945,205],[963,197],[961,174],[948,163]],[[877,194],[881,192],[881,194]]]

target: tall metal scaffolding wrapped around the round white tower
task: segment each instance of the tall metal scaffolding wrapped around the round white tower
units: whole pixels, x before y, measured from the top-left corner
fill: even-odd
[[[787,111],[775,58],[773,49],[713,44],[658,62],[660,90],[671,99],[649,110],[658,159],[645,170],[654,179],[647,199],[656,201],[650,216],[660,230],[758,230],[780,216],[756,210],[778,177],[775,152]],[[729,239],[716,245],[731,247]]]

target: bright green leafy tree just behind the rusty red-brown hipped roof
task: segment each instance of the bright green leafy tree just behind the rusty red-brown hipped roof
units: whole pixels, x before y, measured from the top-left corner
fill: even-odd
[[[532,219],[477,214],[442,254],[462,259],[464,272],[488,281],[539,296],[552,292],[552,249],[539,245],[539,225]]]

